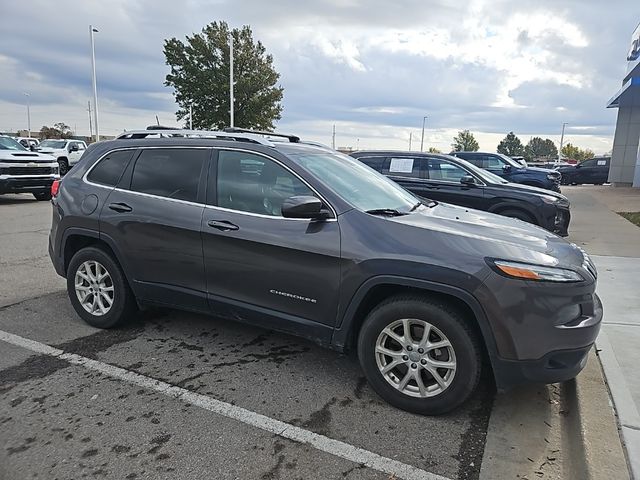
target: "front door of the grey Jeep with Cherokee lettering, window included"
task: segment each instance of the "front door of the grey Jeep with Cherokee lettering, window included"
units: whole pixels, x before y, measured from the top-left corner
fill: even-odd
[[[313,322],[330,332],[340,283],[340,229],[335,218],[284,218],[282,203],[294,195],[318,196],[273,158],[218,152],[202,219],[210,303],[264,326],[280,322],[278,328],[295,330]]]

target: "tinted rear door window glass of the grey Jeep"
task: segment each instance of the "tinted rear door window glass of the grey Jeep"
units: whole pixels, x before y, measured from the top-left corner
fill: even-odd
[[[133,170],[131,190],[195,202],[208,149],[158,148],[144,150]]]

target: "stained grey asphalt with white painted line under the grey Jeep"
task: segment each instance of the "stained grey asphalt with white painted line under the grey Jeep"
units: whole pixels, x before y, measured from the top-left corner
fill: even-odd
[[[91,328],[50,265],[50,210],[0,197],[0,479],[478,478],[488,380],[422,417],[284,334],[168,310]]]

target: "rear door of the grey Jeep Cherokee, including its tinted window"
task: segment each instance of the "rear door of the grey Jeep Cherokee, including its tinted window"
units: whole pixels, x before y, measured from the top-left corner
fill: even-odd
[[[101,235],[140,298],[207,309],[200,225],[209,148],[143,148],[107,198]]]

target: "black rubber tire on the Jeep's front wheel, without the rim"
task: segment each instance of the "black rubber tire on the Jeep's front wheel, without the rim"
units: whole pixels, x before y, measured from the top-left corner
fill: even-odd
[[[375,353],[378,336],[400,319],[430,323],[447,337],[453,348],[455,374],[447,388],[434,396],[410,396],[399,391],[378,367]],[[397,408],[421,415],[440,415],[464,403],[478,385],[482,368],[478,339],[463,316],[447,304],[416,295],[392,297],[369,313],[358,336],[358,358],[369,384],[378,395]],[[426,369],[421,375],[428,375],[425,372]]]

